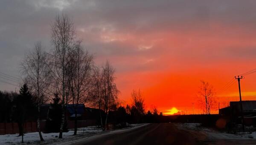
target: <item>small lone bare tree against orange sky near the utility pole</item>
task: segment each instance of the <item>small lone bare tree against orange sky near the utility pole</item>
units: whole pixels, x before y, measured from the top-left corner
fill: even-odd
[[[210,114],[212,108],[216,105],[216,99],[214,98],[214,90],[212,85],[210,85],[208,82],[201,81],[200,90],[198,92],[199,94],[199,103],[203,107],[203,110],[205,108],[206,114]]]

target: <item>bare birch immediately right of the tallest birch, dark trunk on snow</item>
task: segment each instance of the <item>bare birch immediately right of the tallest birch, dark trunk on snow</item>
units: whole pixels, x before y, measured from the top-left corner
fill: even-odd
[[[90,75],[93,67],[93,55],[84,51],[81,41],[76,42],[70,52],[70,63],[68,67],[70,95],[75,110],[75,131],[77,133],[77,105],[88,100],[90,89]]]

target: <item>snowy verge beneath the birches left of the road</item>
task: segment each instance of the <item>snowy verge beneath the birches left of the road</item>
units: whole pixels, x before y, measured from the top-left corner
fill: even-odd
[[[64,142],[70,142],[74,140],[78,140],[81,138],[87,138],[94,135],[102,135],[106,133],[113,133],[116,131],[124,131],[129,130],[131,128],[136,128],[141,125],[146,124],[133,124],[130,125],[129,128],[124,128],[120,130],[114,130],[114,131],[102,131],[101,128],[98,128],[96,126],[88,126],[86,128],[78,128],[77,135],[74,136],[73,130],[70,130],[68,132],[63,133],[63,139],[58,139],[59,133],[42,133],[44,142],[40,142],[38,132],[33,133],[26,133],[24,135],[24,144],[63,144]],[[18,145],[21,144],[21,136],[18,136],[18,134],[6,134],[6,135],[0,135],[0,145]]]

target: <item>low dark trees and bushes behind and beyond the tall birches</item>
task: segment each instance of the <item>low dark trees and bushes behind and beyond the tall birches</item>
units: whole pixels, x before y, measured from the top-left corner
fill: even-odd
[[[19,93],[0,91],[0,122],[17,122],[19,128],[18,136],[22,136],[22,142],[25,133],[25,123],[40,120],[38,106],[42,104],[38,104],[36,94],[30,91],[31,89],[29,89],[27,84],[23,84],[20,87]],[[59,132],[62,118],[61,96],[55,93],[49,98],[50,100],[47,101],[47,103],[50,103],[50,110],[47,113],[49,119],[46,120],[45,131],[46,133]],[[95,96],[92,98],[94,99]],[[112,104],[108,109],[108,112],[104,110],[104,106],[98,106],[99,99],[88,101],[90,102],[88,106],[100,108],[100,111],[94,113],[93,116],[99,116],[96,117],[96,120],[99,120],[97,124],[102,127],[102,130],[108,128],[108,123],[115,125],[115,128],[124,128],[128,126],[127,123],[162,122],[156,107],[152,107],[151,110],[147,112],[145,111],[144,99],[140,90],[132,91],[131,100],[131,104],[127,104],[126,106],[116,101],[116,103]],[[63,131],[67,131],[67,124],[65,123],[66,122],[64,122]],[[77,126],[75,126],[75,129],[77,130]],[[38,132],[39,131],[41,130],[38,130]]]

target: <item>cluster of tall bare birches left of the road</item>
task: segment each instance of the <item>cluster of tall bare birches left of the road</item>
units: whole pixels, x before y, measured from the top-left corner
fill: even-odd
[[[119,90],[115,84],[115,70],[106,63],[96,67],[93,55],[76,39],[72,20],[66,15],[57,15],[51,25],[52,50],[44,52],[40,42],[33,51],[26,54],[21,63],[23,80],[35,96],[40,114],[42,104],[49,101],[53,94],[58,94],[61,101],[61,126],[59,138],[65,123],[65,105],[73,104],[75,110],[75,131],[77,133],[77,104],[89,101],[99,102],[99,108],[106,113],[116,103]],[[40,118],[38,132],[41,141]]]

